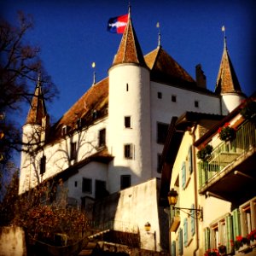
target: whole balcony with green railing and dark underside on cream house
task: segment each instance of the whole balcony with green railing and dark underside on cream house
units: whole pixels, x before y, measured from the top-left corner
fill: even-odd
[[[234,140],[220,143],[206,160],[198,163],[199,192],[227,201],[255,195],[255,145],[255,125],[244,122]]]

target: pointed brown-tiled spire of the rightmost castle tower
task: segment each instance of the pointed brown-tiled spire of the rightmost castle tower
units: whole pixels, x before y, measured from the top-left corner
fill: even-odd
[[[215,92],[218,94],[229,92],[241,93],[241,86],[236,77],[236,72],[228,53],[224,26],[222,27],[222,31],[224,32],[224,52],[220,62]]]

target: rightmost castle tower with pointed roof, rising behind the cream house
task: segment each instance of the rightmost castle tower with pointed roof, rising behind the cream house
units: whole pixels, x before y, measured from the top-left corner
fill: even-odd
[[[220,62],[215,92],[221,96],[222,112],[224,114],[230,113],[245,98],[230,60],[225,36],[224,52]]]

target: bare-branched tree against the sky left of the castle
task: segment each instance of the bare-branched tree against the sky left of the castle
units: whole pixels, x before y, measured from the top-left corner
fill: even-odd
[[[17,26],[0,20],[0,114],[5,115],[0,122],[4,137],[0,143],[3,161],[9,160],[12,149],[21,149],[20,131],[14,117],[20,113],[25,103],[31,103],[38,73],[41,73],[45,100],[52,100],[58,90],[44,71],[39,58],[39,48],[26,44],[25,36],[33,27],[32,16],[18,13]]]

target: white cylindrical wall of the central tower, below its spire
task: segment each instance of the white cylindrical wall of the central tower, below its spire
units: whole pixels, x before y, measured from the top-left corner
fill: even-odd
[[[125,129],[125,116],[131,116],[129,129]],[[114,156],[108,170],[112,193],[119,190],[122,174],[131,175],[132,185],[151,177],[148,69],[135,64],[118,65],[110,69],[108,120],[108,150]],[[133,146],[131,160],[124,157],[126,143]]]

